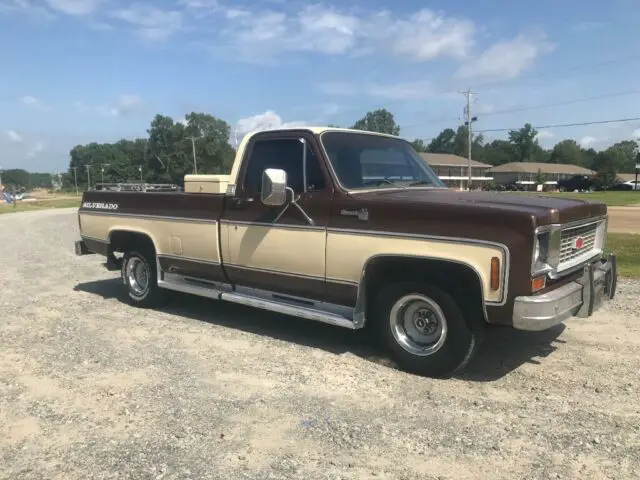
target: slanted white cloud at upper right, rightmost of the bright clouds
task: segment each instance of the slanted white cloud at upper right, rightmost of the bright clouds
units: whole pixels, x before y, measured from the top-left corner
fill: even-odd
[[[516,38],[491,45],[479,56],[463,64],[456,72],[458,78],[486,77],[512,80],[545,53],[554,49],[545,35],[520,34]]]

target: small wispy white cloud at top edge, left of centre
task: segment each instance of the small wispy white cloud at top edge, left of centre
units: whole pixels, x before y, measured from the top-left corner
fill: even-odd
[[[163,40],[182,28],[183,16],[178,10],[162,10],[140,3],[116,10],[111,15],[135,28],[146,40]]]

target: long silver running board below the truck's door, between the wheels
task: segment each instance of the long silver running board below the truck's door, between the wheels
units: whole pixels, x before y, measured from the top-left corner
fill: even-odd
[[[168,275],[165,274],[164,276],[166,278]],[[203,284],[209,282],[202,282],[202,284],[198,285],[196,282],[187,283],[185,280],[186,279],[183,279],[183,281],[177,282],[158,279],[158,286],[160,288],[176,292],[198,295],[200,297],[212,298],[214,300],[225,300],[227,302],[238,303],[248,307],[259,308],[261,310],[269,310],[271,312],[282,313],[284,315],[292,315],[294,317],[304,318],[307,320],[328,323],[329,325],[348,328],[350,330],[359,328],[349,318],[336,313],[326,312],[312,307],[285,304],[242,293],[230,292],[225,289],[225,287],[229,288],[227,285],[211,283],[210,286],[204,286]]]

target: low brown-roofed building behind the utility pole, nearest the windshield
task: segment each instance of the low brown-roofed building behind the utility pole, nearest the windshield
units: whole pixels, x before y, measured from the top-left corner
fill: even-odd
[[[469,160],[449,153],[420,153],[431,169],[448,187],[465,190],[469,180]],[[493,180],[487,174],[491,165],[471,160],[471,188],[481,188]]]

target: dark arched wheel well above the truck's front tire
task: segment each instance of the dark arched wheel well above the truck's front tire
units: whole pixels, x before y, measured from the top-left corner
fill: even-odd
[[[470,266],[449,260],[381,256],[371,260],[365,270],[365,317],[371,311],[377,291],[398,281],[421,281],[442,288],[455,298],[465,319],[487,321],[482,285],[478,273]]]

